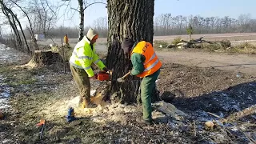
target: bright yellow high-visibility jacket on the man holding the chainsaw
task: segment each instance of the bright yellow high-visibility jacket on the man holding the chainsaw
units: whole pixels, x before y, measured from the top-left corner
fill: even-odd
[[[79,69],[86,70],[89,77],[94,76],[94,71],[91,69],[91,64],[94,62],[99,69],[106,67],[103,62],[98,58],[98,55],[90,46],[90,41],[84,36],[80,42],[74,47],[72,56],[70,57],[70,65]]]

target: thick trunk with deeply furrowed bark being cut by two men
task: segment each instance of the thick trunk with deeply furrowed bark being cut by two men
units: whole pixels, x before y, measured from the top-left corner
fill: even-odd
[[[108,0],[108,54],[106,66],[113,70],[112,82],[106,99],[122,103],[137,102],[140,79],[126,78],[118,83],[117,78],[131,70],[130,58],[126,58],[121,48],[123,38],[134,41],[153,42],[154,0]]]

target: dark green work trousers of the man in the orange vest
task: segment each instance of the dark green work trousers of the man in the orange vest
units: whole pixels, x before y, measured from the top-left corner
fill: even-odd
[[[154,74],[146,76],[142,79],[141,83],[141,98],[142,98],[142,106],[143,106],[143,119],[145,121],[152,121],[152,106],[151,106],[151,98],[155,86],[155,81],[160,74],[160,69],[156,71]]]

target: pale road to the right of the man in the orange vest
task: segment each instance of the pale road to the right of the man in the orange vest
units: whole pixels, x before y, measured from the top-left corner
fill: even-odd
[[[186,66],[214,67],[256,76],[256,55],[220,54],[191,51],[157,52],[162,62],[174,62]]]

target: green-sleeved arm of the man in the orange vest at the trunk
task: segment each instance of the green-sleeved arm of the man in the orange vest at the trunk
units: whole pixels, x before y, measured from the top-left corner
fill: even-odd
[[[144,71],[145,57],[142,54],[134,53],[131,55],[131,62],[133,64],[133,70],[131,70],[131,75],[141,74]]]

